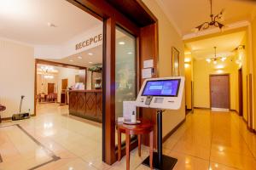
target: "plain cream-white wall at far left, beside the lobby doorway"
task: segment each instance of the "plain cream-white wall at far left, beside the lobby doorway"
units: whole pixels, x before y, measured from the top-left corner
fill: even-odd
[[[18,113],[20,96],[25,95],[23,111],[34,113],[34,67],[33,48],[0,40],[0,104],[7,107],[2,117]]]

